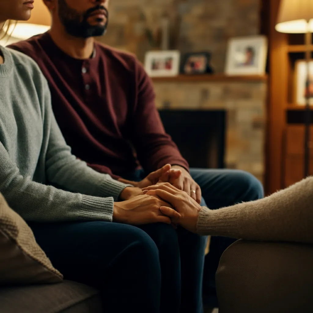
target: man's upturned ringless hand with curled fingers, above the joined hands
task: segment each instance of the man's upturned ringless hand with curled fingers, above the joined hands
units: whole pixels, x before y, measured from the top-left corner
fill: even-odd
[[[169,179],[176,180],[180,177],[182,171],[180,169],[171,168],[170,164],[166,164],[155,172],[150,173],[146,178],[144,178],[141,182],[133,182],[124,178],[119,178],[119,182],[123,182],[125,184],[130,184],[138,188],[145,188],[151,185],[155,185],[160,178],[162,177],[162,181],[167,179],[164,182],[168,182]]]

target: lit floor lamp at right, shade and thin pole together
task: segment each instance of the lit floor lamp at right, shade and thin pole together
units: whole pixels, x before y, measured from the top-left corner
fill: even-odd
[[[313,0],[281,0],[275,29],[280,33],[305,34],[305,59],[307,64],[306,86],[310,83],[310,59],[313,33]],[[306,93],[304,177],[310,172],[310,97]]]

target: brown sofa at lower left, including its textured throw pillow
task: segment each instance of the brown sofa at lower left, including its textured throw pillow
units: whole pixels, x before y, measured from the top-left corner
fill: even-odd
[[[63,280],[0,193],[0,313],[100,313],[99,291]]]

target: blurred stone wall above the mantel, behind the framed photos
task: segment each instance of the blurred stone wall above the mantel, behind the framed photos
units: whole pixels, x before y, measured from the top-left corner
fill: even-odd
[[[167,16],[170,48],[211,51],[212,66],[222,73],[228,38],[258,34],[259,10],[259,0],[111,0],[110,25],[100,41],[143,61],[146,51],[157,49],[160,21]]]

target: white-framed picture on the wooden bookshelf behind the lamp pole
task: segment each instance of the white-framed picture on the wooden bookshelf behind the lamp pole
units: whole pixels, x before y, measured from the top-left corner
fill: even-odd
[[[313,60],[309,63],[310,79],[307,83],[308,67],[305,60],[295,63],[295,104],[305,105],[306,96],[310,96],[310,104],[313,104]]]

